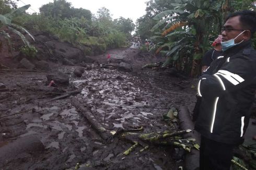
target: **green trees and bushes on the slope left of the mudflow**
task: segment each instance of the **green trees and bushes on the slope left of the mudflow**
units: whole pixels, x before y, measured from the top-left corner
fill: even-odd
[[[0,14],[9,15],[16,8],[13,1],[0,0]],[[65,0],[54,0],[53,3],[42,5],[39,14],[26,14],[25,8],[19,11],[21,11],[19,15],[12,17],[8,23],[2,22],[2,26],[19,26],[17,29],[19,32],[25,29],[48,32],[60,38],[61,41],[70,42],[75,46],[80,44],[88,46],[89,48],[85,51],[87,55],[92,54],[92,49],[102,53],[107,48],[127,46],[127,40],[135,28],[130,18],[120,17],[113,20],[107,8],[99,9],[94,16],[90,10],[74,8]],[[19,35],[22,40],[25,38],[22,34]]]

